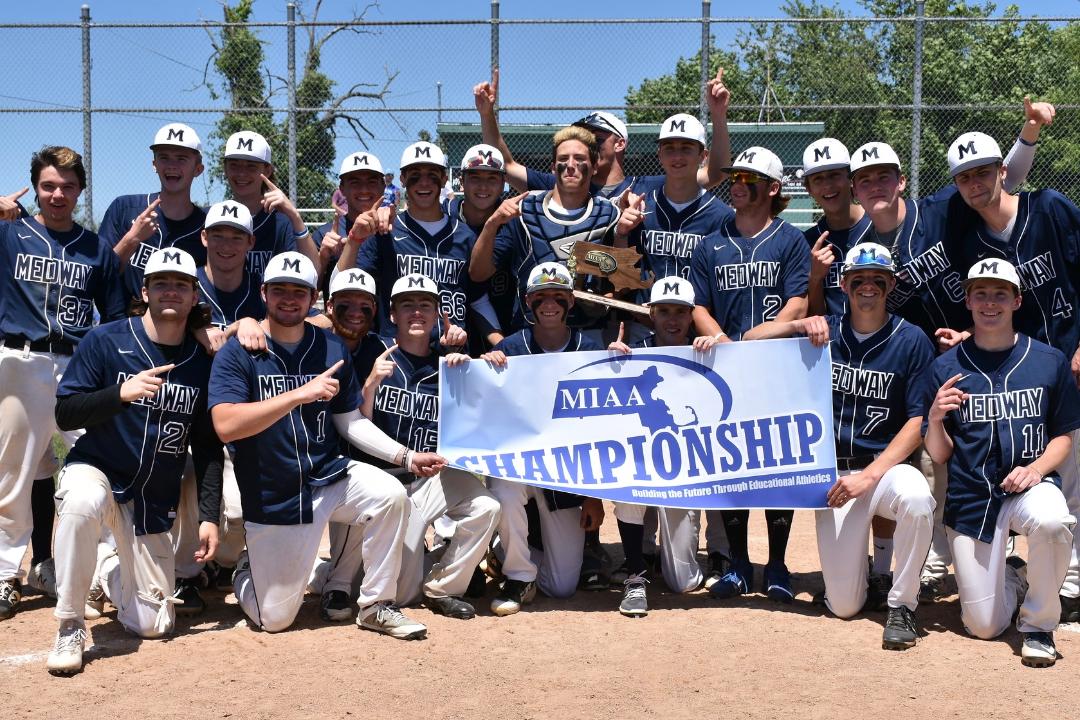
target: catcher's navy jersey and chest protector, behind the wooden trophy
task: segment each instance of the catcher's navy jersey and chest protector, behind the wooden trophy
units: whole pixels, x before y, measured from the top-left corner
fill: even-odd
[[[565,214],[550,206],[551,193],[530,192],[521,204],[522,215],[499,228],[491,260],[497,271],[516,279],[517,308],[509,328],[525,326],[524,296],[529,273],[541,262],[565,262],[576,242],[610,245],[619,222],[619,208],[604,198],[590,198],[584,207]]]

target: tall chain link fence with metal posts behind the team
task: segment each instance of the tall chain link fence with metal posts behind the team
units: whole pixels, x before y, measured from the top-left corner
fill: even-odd
[[[1024,95],[1058,110],[1028,185],[1080,201],[1080,17],[893,4],[902,15],[814,5],[814,17],[719,18],[706,0],[693,17],[528,21],[500,18],[492,2],[489,17],[440,22],[310,18],[289,4],[284,23],[249,23],[249,2],[237,0],[226,22],[98,24],[84,8],[69,24],[3,24],[12,51],[50,47],[53,71],[15,73],[0,92],[2,187],[27,184],[40,146],[76,147],[93,223],[114,196],[157,188],[147,147],[177,121],[203,138],[192,196],[214,202],[227,191],[222,141],[249,128],[270,139],[279,185],[318,222],[350,152],[367,149],[394,171],[408,144],[430,137],[459,162],[480,141],[472,86],[495,67],[518,159],[546,164],[555,128],[605,109],[630,122],[627,173],[659,173],[657,123],[678,111],[707,120],[702,87],[723,67],[732,150],[765,145],[781,157],[800,225],[813,207],[794,171],[813,139],[849,149],[883,139],[909,159],[910,194],[928,194],[948,181],[945,148],[961,132],[987,132],[1008,150]]]

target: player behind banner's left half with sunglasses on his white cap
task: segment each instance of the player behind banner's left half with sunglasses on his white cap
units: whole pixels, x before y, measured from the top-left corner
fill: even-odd
[[[566,266],[544,262],[532,269],[526,284],[525,303],[532,311],[535,325],[519,330],[491,352],[481,355],[496,367],[504,367],[508,356],[541,353],[600,350],[566,325],[573,307],[572,281]],[[536,597],[537,584],[545,595],[566,598],[573,595],[581,574],[585,532],[600,527],[604,505],[595,498],[569,492],[542,490],[521,483],[490,478],[488,487],[502,505],[499,518],[499,543],[503,553],[502,573],[507,576],[491,600],[491,612],[511,615]],[[540,513],[543,552],[534,558],[528,543],[525,505],[536,500]]]

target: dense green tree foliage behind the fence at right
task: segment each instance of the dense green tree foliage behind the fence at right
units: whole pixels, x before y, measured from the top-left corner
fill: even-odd
[[[915,15],[914,0],[861,4],[867,16]],[[993,16],[996,10],[990,2],[928,0],[924,14],[975,19]],[[850,17],[820,0],[787,0],[783,11],[788,17]],[[1052,103],[1075,103],[1080,97],[1080,23],[1022,23],[1015,5],[1001,16],[1004,22],[923,23],[919,167],[923,192],[948,181],[945,150],[956,136],[980,130],[998,138],[1005,150],[1023,122],[1025,95]],[[725,83],[731,89],[731,121],[756,121],[761,114],[775,122],[779,104],[785,120],[824,122],[825,133],[849,148],[878,139],[892,145],[901,158],[909,154],[914,21],[752,24],[740,30],[735,44],[742,50],[738,55],[715,46],[711,51],[714,71],[723,65]],[[627,120],[659,122],[676,111],[697,113],[699,62],[700,55],[679,58],[673,73],[631,87]],[[664,108],[644,107],[653,105]],[[756,107],[760,105],[771,111]],[[1057,126],[1043,138],[1030,174],[1032,185],[1052,185],[1080,196],[1076,175],[1080,138]]]

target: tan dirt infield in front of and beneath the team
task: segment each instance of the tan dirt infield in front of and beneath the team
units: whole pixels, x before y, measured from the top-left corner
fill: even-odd
[[[603,538],[619,556],[608,511]],[[761,595],[725,603],[702,592],[678,596],[658,581],[642,620],[619,615],[616,589],[578,593],[502,619],[486,603],[465,622],[414,609],[429,639],[403,642],[324,624],[314,598],[293,629],[254,631],[231,596],[208,594],[207,612],[181,619],[165,641],[127,635],[114,612],[90,623],[85,671],[53,678],[44,669],[52,603],[29,597],[0,623],[0,704],[8,718],[80,719],[1076,716],[1080,626],[1058,629],[1055,667],[1029,669],[1015,630],[966,637],[953,595],[919,609],[915,649],[883,651],[883,613],[840,621],[811,604],[822,588],[813,518],[795,517],[792,606]],[[760,513],[752,526],[760,561]]]

